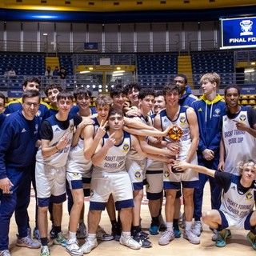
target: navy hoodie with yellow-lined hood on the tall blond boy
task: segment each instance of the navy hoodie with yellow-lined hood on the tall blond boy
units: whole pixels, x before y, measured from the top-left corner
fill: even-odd
[[[193,103],[193,108],[198,117],[199,144],[198,158],[202,158],[202,151],[213,150],[215,156],[219,154],[219,143],[222,138],[222,115],[225,113],[226,104],[221,95],[217,95],[212,102],[202,95]]]

